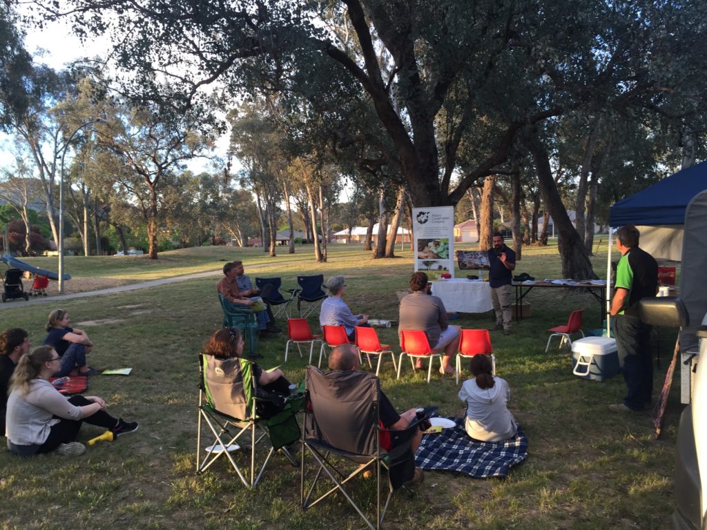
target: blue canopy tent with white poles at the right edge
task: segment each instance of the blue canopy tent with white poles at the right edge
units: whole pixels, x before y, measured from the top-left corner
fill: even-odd
[[[689,328],[680,336],[683,356],[696,347],[695,328],[707,312],[707,162],[671,175],[609,211],[609,225],[636,225],[641,248],[656,259],[682,261],[680,298],[690,315]],[[611,274],[611,231],[607,278]],[[609,300],[607,297],[607,312]],[[690,366],[681,363],[681,401],[690,401]]]

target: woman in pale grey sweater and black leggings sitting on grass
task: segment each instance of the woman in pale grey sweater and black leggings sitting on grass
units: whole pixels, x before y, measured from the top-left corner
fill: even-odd
[[[59,394],[49,382],[58,366],[59,355],[51,346],[35,348],[18,361],[7,400],[6,436],[11,452],[25,457],[54,449],[64,456],[83,454],[86,447],[75,440],[84,421],[114,436],[137,430],[137,423],[110,416],[98,396],[66,398]]]

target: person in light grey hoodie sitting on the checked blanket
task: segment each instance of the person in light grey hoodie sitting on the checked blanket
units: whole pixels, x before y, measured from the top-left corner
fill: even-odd
[[[501,442],[515,436],[518,425],[506,404],[510,399],[508,383],[491,375],[488,355],[474,355],[471,360],[474,379],[467,379],[459,399],[467,404],[464,428],[474,440]]]

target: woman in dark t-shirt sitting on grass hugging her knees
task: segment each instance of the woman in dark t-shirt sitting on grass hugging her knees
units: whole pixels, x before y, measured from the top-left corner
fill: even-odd
[[[74,367],[78,367],[79,375],[98,375],[96,370],[86,364],[86,355],[93,350],[93,343],[86,331],[70,328],[69,324],[69,313],[64,310],[49,313],[49,322],[45,324],[48,333],[44,343],[52,346],[60,358],[54,377],[69,375]]]

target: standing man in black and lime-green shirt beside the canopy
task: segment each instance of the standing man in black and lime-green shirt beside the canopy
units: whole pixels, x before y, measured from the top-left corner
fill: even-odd
[[[638,412],[650,405],[653,394],[653,363],[650,355],[650,329],[638,317],[641,298],[658,293],[658,263],[638,248],[640,232],[633,225],[617,231],[617,250],[621,259],[614,283],[610,314],[614,317],[619,363],[628,391],[624,403],[609,405],[614,412]]]

